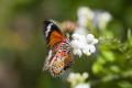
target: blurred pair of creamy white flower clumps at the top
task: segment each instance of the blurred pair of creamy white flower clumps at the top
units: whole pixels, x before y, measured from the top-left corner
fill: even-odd
[[[86,26],[88,22],[91,22],[91,24],[95,28],[98,29],[106,29],[106,25],[111,21],[112,16],[109,12],[106,11],[92,11],[88,7],[81,7],[77,11],[78,14],[78,24]]]

